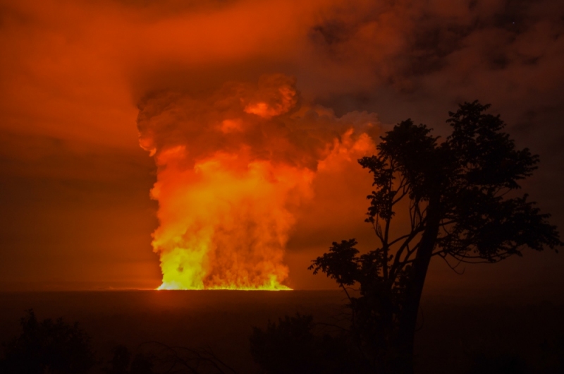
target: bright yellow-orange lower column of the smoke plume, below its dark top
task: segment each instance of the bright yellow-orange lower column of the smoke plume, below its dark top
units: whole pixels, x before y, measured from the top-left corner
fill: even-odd
[[[190,169],[182,147],[159,155],[166,165],[152,190],[161,222],[153,241],[159,289],[289,289],[282,283],[290,210],[311,195],[313,172],[249,162],[246,152],[218,152]]]

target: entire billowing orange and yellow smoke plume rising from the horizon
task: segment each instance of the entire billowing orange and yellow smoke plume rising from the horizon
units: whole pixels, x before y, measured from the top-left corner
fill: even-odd
[[[160,289],[287,289],[284,249],[317,170],[374,152],[378,131],[374,115],[301,104],[281,74],[197,97],[157,92],[139,107],[140,145],[157,164]]]

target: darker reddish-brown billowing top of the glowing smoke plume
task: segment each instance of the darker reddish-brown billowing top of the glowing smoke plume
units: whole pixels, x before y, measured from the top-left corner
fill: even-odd
[[[300,101],[295,78],[283,74],[262,76],[258,84],[226,83],[207,97],[157,92],[139,104],[140,144],[157,158],[179,145],[187,147],[192,162],[244,149],[251,159],[315,170],[333,139],[348,128],[355,137],[379,133],[376,114],[338,118],[330,109],[302,107]]]

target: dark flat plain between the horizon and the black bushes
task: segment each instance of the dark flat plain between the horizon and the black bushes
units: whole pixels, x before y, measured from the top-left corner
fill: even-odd
[[[340,291],[87,291],[0,293],[0,341],[19,333],[33,308],[39,320],[78,321],[101,358],[148,341],[209,346],[238,369],[255,373],[252,326],[296,312],[331,322],[343,311]],[[564,305],[520,298],[425,296],[417,332],[417,373],[465,373],[480,354],[517,357],[534,366],[546,342],[564,336]],[[561,354],[561,352],[560,352]]]

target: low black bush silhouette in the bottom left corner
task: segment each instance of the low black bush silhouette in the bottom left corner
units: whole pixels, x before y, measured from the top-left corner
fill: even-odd
[[[90,337],[62,318],[37,321],[33,310],[20,320],[22,333],[4,343],[0,370],[10,374],[85,373],[95,364]]]

